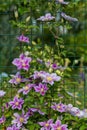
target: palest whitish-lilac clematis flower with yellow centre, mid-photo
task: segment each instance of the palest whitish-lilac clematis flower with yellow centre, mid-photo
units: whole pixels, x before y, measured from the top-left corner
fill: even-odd
[[[59,81],[60,79],[61,79],[61,77],[57,76],[56,73],[52,73],[52,74],[46,73],[43,77],[42,82],[49,83],[50,85],[53,85],[54,81]]]

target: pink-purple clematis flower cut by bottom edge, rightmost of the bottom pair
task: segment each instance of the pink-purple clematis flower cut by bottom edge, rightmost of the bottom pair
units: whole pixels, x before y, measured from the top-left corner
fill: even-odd
[[[61,124],[60,120],[57,120],[55,124],[51,124],[52,130],[68,130],[66,124]]]

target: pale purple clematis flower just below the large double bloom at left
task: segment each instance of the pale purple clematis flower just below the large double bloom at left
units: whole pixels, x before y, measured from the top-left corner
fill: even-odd
[[[25,82],[25,79],[22,78],[20,72],[17,72],[16,75],[11,75],[13,78],[9,80],[11,84],[20,84],[21,82]]]

